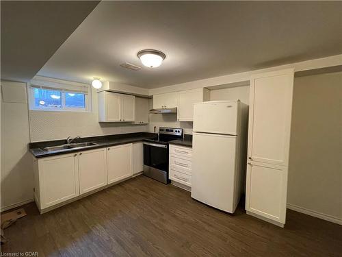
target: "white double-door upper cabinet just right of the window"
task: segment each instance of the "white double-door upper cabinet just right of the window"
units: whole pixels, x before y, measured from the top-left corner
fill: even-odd
[[[98,121],[135,121],[135,97],[107,91],[98,93]]]

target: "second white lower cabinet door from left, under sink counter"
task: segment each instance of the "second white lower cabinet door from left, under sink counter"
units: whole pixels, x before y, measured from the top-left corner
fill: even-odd
[[[79,153],[79,193],[88,193],[107,184],[106,149]]]

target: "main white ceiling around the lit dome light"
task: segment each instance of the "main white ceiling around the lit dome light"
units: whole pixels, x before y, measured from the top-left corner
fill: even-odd
[[[156,88],[342,53],[342,1],[102,1],[38,75]],[[142,66],[136,54],[166,60]]]

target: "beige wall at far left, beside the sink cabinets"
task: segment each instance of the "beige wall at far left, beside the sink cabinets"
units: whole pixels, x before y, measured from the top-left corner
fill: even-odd
[[[9,90],[5,90],[5,87]],[[1,82],[1,210],[33,198],[26,84]],[[15,88],[16,94],[9,91]],[[8,94],[6,95],[6,92]],[[13,92],[13,91],[12,91]]]

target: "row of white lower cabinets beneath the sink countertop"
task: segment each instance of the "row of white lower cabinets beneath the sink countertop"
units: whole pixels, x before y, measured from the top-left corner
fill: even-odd
[[[34,158],[34,199],[40,213],[53,210],[80,195],[133,175],[132,145]],[[142,161],[142,147],[135,145]],[[136,166],[141,169],[142,164]]]

